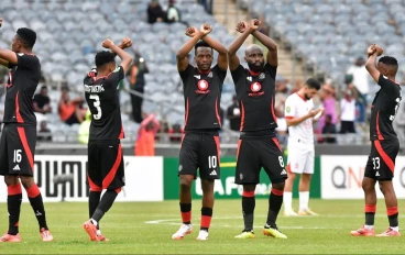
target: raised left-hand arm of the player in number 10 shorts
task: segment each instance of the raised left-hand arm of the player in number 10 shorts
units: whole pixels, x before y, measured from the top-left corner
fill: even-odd
[[[191,52],[193,47],[197,42],[202,38],[204,34],[196,27],[191,26],[186,30],[186,35],[191,37],[188,40],[176,54],[177,70],[184,71],[188,66],[188,53]]]

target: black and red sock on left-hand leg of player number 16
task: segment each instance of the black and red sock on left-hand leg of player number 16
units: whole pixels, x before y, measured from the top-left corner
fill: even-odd
[[[8,234],[17,235],[19,233],[19,220],[22,201],[21,184],[7,187],[7,208],[9,210],[9,231]]]

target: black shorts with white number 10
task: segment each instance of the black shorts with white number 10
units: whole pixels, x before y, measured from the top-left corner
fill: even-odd
[[[201,179],[219,179],[218,132],[186,132],[178,159],[178,175],[194,175]]]

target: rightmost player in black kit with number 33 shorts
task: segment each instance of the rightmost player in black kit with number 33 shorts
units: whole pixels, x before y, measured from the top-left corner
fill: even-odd
[[[376,236],[399,236],[398,207],[392,184],[395,158],[399,151],[399,142],[392,125],[402,100],[401,87],[395,82],[398,63],[394,57],[383,56],[375,66],[376,57],[383,54],[383,49],[375,44],[369,47],[368,54],[369,59],[365,63],[365,68],[381,88],[371,107],[370,141],[372,145],[362,182],[365,223],[363,228],[352,231],[351,235],[375,235],[375,184],[379,181],[380,190],[385,199],[390,226]]]

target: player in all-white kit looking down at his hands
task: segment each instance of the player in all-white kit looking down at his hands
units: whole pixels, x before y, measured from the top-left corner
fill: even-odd
[[[303,88],[285,101],[285,119],[288,125],[288,159],[284,188],[284,215],[316,215],[308,207],[310,177],[314,174],[314,121],[324,109],[314,110],[313,97],[318,93],[320,84],[309,78]],[[299,211],[293,210],[293,185],[299,179]]]

